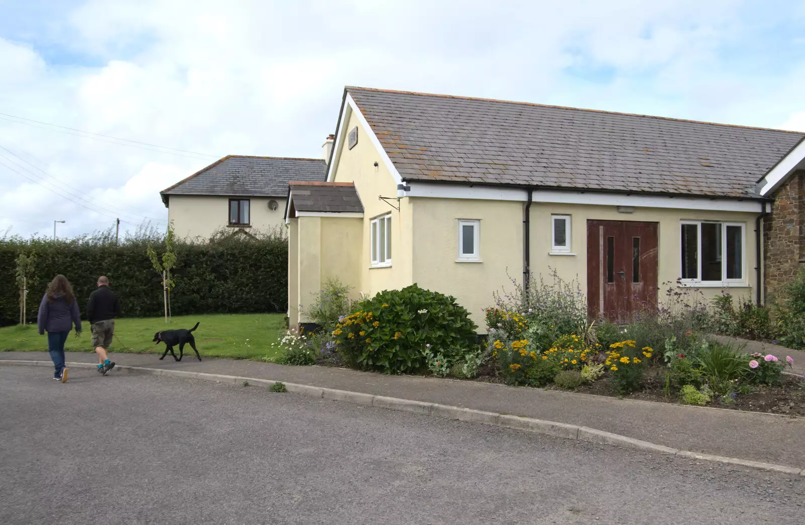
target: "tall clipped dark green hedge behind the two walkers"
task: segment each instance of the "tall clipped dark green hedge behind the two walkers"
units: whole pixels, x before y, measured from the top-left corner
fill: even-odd
[[[108,237],[71,241],[0,238],[0,326],[19,321],[19,290],[14,281],[21,251],[35,252],[36,281],[29,285],[27,318],[36,320],[47,283],[58,273],[72,283],[82,316],[99,275],[109,277],[120,297],[124,317],[163,314],[159,274],[146,255],[148,243],[159,255],[160,239],[139,237],[115,244]],[[204,244],[175,242],[177,256],[171,277],[174,315],[285,312],[287,310],[287,240],[243,237]]]

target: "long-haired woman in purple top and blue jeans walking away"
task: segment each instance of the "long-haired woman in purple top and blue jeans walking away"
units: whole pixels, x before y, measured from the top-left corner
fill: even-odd
[[[76,325],[76,336],[81,334],[81,314],[78,311],[76,296],[72,293],[72,286],[63,275],[53,278],[47,285],[47,292],[39,304],[37,325],[39,335],[47,330],[47,351],[53,361],[53,379],[67,383],[67,367],[64,366],[64,342],[72,325]]]

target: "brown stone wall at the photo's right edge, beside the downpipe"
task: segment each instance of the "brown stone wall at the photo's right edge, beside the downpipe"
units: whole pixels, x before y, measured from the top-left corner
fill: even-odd
[[[771,215],[763,224],[763,281],[766,301],[805,265],[805,170],[799,170],[774,193]]]

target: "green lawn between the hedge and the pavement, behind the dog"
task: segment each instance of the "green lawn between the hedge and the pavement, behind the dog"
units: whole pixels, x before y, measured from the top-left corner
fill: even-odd
[[[162,355],[164,343],[154,348],[154,334],[160,330],[190,329],[196,322],[201,324],[193,332],[196,347],[202,357],[227,357],[230,359],[254,359],[263,355],[275,355],[271,343],[284,330],[283,314],[215,314],[188,315],[173,318],[165,324],[164,318],[131,318],[115,321],[116,338],[109,348],[113,352],[151,353]],[[81,338],[68,336],[66,351],[93,351],[90,347],[89,324],[83,323]],[[119,341],[118,341],[119,338]],[[121,344],[122,343],[122,344]],[[126,345],[123,348],[122,345]],[[0,351],[47,351],[47,337],[39,335],[36,325],[8,326],[0,328]],[[174,351],[179,353],[179,348]],[[192,348],[184,347],[184,356],[195,358]]]

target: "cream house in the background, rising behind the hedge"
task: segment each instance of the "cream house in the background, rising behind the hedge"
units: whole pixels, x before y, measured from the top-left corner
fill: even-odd
[[[221,228],[271,232],[285,228],[288,181],[324,181],[324,159],[227,155],[159,193],[176,236],[208,239]]]

